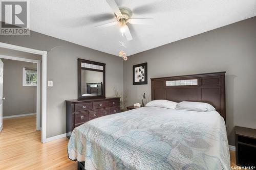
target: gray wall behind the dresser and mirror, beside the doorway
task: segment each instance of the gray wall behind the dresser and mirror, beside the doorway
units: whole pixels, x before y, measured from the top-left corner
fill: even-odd
[[[65,100],[77,99],[77,58],[106,63],[106,96],[115,95],[113,86],[123,91],[123,60],[120,57],[33,31],[30,36],[0,36],[0,41],[48,51],[47,80],[53,81],[53,87],[47,87],[47,137],[66,133]],[[0,49],[0,54],[2,52]]]

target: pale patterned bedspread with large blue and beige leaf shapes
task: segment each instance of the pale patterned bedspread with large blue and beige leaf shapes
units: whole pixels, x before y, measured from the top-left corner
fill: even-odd
[[[91,169],[230,169],[224,119],[216,111],[143,107],[77,128],[69,158]]]

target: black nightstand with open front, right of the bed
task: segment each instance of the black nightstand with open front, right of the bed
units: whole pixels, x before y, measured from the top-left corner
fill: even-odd
[[[256,166],[256,129],[235,126],[236,159],[239,166]]]

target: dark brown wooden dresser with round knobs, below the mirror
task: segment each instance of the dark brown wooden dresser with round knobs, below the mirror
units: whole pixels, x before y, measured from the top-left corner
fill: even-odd
[[[120,112],[120,98],[67,100],[66,131],[69,138],[74,128],[97,117]]]

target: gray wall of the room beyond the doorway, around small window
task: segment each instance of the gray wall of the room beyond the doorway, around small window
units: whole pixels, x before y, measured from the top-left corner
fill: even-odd
[[[3,116],[36,113],[36,86],[23,86],[23,67],[36,64],[2,59],[4,63]]]

